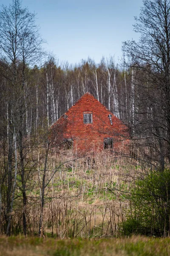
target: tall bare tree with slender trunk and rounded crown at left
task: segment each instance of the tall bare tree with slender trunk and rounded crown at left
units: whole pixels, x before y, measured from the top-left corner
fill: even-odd
[[[22,8],[20,0],[12,0],[9,7],[2,6],[0,11],[0,52],[3,60],[2,68],[8,73],[8,82],[13,88],[13,103],[16,101],[18,109],[14,113],[11,99],[8,101],[8,122],[17,119],[15,130],[20,154],[20,175],[23,195],[23,233],[27,233],[26,224],[26,178],[25,154],[23,152],[23,138],[25,136],[24,118],[26,116],[24,88],[26,89],[27,65],[34,65],[42,58],[42,39],[35,25],[35,14],[27,8]],[[15,103],[14,103],[15,104]],[[12,115],[12,116],[11,116]],[[13,118],[14,117],[14,118]],[[13,129],[9,129],[9,137],[14,137]],[[9,166],[11,166],[12,140],[8,143]],[[9,167],[11,168],[11,167]],[[12,183],[11,171],[8,172],[8,183]],[[8,191],[8,193],[11,193]],[[10,199],[11,201],[11,199]]]

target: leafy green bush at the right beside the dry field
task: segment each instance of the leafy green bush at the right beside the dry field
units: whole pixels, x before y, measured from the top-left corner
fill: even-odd
[[[126,236],[170,234],[170,170],[152,171],[136,181],[128,198],[130,209],[123,223]]]

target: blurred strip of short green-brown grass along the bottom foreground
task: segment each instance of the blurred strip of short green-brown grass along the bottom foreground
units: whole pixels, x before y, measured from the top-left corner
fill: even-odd
[[[40,239],[0,237],[0,256],[167,256],[170,239]]]

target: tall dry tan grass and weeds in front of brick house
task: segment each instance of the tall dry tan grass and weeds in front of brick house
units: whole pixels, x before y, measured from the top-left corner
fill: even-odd
[[[91,158],[72,159],[73,156],[68,154],[49,155],[45,180],[50,180],[56,168],[60,167],[45,189],[45,236],[60,239],[118,237],[128,207],[126,194],[122,191],[130,189],[132,177],[138,168],[130,160],[123,157],[115,159],[104,153],[95,154]],[[40,160],[38,167],[42,180],[43,160]],[[27,230],[29,235],[34,236],[38,233],[40,218],[37,169],[30,173],[27,187]],[[19,189],[16,191],[17,199],[12,216],[13,234],[22,233],[23,204],[18,195]],[[5,229],[3,231],[2,227],[3,233]]]

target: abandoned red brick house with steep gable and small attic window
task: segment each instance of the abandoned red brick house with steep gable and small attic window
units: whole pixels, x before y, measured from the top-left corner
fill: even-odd
[[[118,151],[127,141],[127,127],[90,93],[85,93],[52,126],[62,126],[65,148],[74,151]]]

